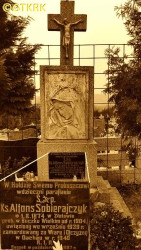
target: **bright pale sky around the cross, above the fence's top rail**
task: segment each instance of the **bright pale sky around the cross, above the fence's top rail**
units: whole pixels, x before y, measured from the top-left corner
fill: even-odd
[[[75,44],[93,43],[126,43],[128,36],[123,20],[116,16],[115,6],[124,4],[126,0],[75,0],[75,14],[87,15],[87,31],[75,32]],[[26,6],[22,11],[14,14],[31,16],[34,20],[25,31],[31,44],[59,44],[60,32],[47,31],[47,14],[60,13],[60,0],[21,0],[18,4],[45,4],[45,11],[27,11]],[[33,7],[31,6],[31,9]]]

